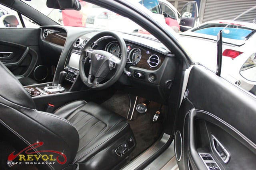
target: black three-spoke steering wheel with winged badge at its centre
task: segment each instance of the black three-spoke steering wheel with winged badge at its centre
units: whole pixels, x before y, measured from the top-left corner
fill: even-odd
[[[121,59],[111,53],[108,53],[107,51],[92,49],[92,44],[105,36],[112,36],[116,38],[122,51]],[[84,46],[80,56],[79,73],[82,82],[86,86],[97,90],[108,88],[109,86],[113,85],[124,72],[126,56],[126,44],[124,39],[122,39],[122,37],[120,37],[120,35],[117,33],[111,31],[102,31],[94,35]],[[84,65],[88,60],[90,63],[90,69],[88,76],[86,76]],[[111,77],[108,80],[109,76]]]

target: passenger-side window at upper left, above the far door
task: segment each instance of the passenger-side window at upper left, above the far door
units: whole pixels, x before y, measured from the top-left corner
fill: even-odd
[[[25,27],[39,27],[34,21],[22,15]],[[18,12],[0,4],[0,28],[22,28],[22,22],[18,16]]]

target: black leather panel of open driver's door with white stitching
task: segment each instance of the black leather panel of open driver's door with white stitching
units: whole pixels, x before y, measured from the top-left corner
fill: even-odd
[[[179,168],[215,162],[222,170],[255,169],[256,99],[202,66],[192,68],[187,89],[176,126],[183,144]],[[206,154],[212,160],[203,161]]]

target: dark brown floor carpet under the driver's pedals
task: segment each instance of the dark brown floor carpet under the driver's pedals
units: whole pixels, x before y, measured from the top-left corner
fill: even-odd
[[[136,105],[143,103],[145,100],[145,98],[138,97]],[[130,107],[130,100],[127,93],[117,91],[112,98],[102,103],[102,106],[126,118]],[[161,116],[158,121],[152,121],[156,111],[159,111],[160,107],[161,104],[150,102],[146,113],[141,114],[134,109],[133,119],[129,121],[129,123],[134,133],[137,145],[131,154],[131,158],[135,158],[144,150],[148,149],[162,134],[163,126],[161,120],[163,120],[164,117],[165,111],[163,110],[166,109],[165,106],[161,109],[162,112],[160,113]]]

